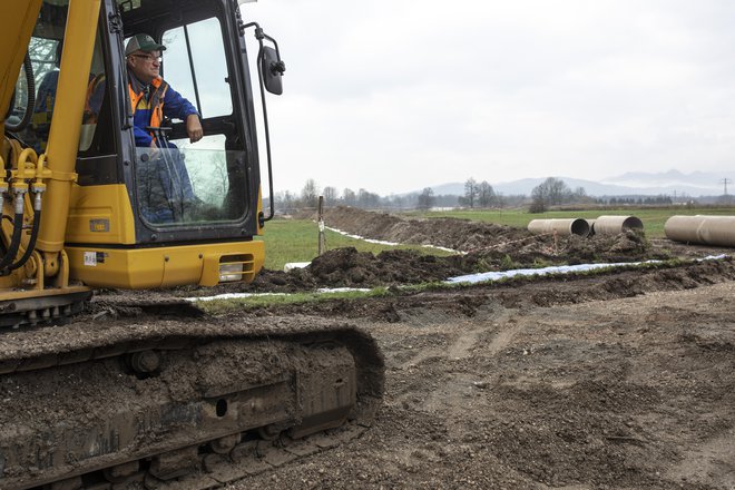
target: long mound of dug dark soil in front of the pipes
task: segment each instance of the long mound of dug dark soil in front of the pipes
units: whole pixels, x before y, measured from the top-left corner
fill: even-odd
[[[513,268],[581,263],[641,262],[672,257],[698,257],[721,252],[687,247],[668,241],[651,245],[637,232],[592,237],[532,235],[526,229],[454,218],[409,219],[386,213],[350,207],[329,209],[329,226],[365,238],[438,245],[462,251],[437,257],[414,251],[388,251],[378,255],[353,247],[327,251],[305,268],[263,271],[252,284],[223,284],[202,288],[206,294],[293,293],[322,287],[375,287],[444,281],[449,277]],[[731,251],[732,252],[732,251]],[[196,295],[196,287],[179,295]]]

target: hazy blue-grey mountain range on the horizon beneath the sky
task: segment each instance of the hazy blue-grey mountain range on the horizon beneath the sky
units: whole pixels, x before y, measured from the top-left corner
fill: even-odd
[[[679,170],[664,173],[629,171],[602,180],[585,180],[572,177],[555,176],[564,180],[570,189],[584,187],[588,196],[719,196],[724,194],[723,179],[727,178],[727,194],[735,194],[735,171],[707,173],[693,171],[684,174]],[[533,187],[547,177],[522,178],[512,182],[492,183],[496,193],[503,195],[530,195]],[[448,183],[432,186],[435,195],[463,195],[464,183]]]

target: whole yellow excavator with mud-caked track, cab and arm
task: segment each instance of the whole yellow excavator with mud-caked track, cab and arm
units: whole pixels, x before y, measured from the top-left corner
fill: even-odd
[[[246,2],[0,3],[0,489],[217,488],[370,425],[384,367],[354,326],[85,311],[94,291],[262,268],[258,140],[273,196],[265,92],[285,65]],[[161,75],[195,102],[202,140],[174,119],[146,128],[166,145],[136,147],[125,46],[139,33],[166,46]]]

